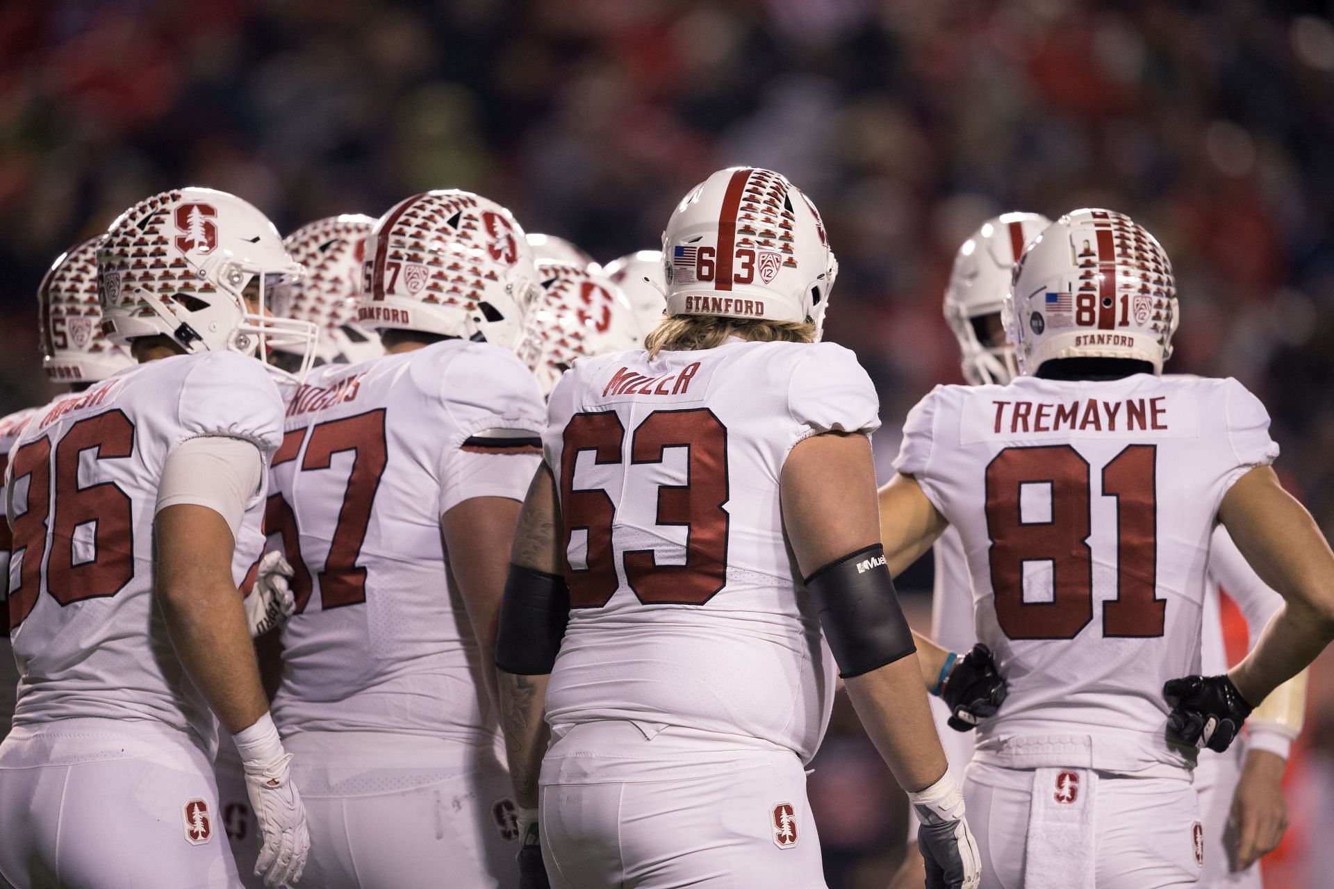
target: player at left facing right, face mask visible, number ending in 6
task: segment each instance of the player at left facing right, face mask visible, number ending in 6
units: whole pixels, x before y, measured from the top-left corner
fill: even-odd
[[[263,213],[207,188],[149,197],[97,247],[103,332],[139,365],[43,408],[8,469],[23,678],[0,874],[19,889],[240,886],[215,829],[215,716],[264,833],[259,870],[300,878],[305,817],[237,592],[283,420],[249,356],[313,344],[264,316],[265,289],[299,273]]]

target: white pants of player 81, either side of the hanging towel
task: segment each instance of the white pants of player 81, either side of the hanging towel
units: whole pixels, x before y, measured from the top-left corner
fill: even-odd
[[[1022,889],[1033,769],[974,761],[963,797],[982,852],[982,889]],[[1098,773],[1093,812],[1098,889],[1195,886],[1199,806],[1187,778]]]

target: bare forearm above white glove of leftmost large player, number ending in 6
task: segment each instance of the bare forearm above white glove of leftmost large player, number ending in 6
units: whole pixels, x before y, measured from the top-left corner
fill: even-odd
[[[249,728],[268,702],[241,596],[231,578],[180,578],[157,590],[176,656],[228,733]]]

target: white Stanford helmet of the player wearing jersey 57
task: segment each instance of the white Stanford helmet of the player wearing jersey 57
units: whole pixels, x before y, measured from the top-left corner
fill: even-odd
[[[366,243],[358,321],[518,344],[536,271],[504,207],[472,192],[414,195],[380,217]]]

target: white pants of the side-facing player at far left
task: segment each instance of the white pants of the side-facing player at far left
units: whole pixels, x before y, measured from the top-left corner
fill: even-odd
[[[55,720],[0,744],[0,874],[15,889],[241,889],[208,757],[137,720]]]

